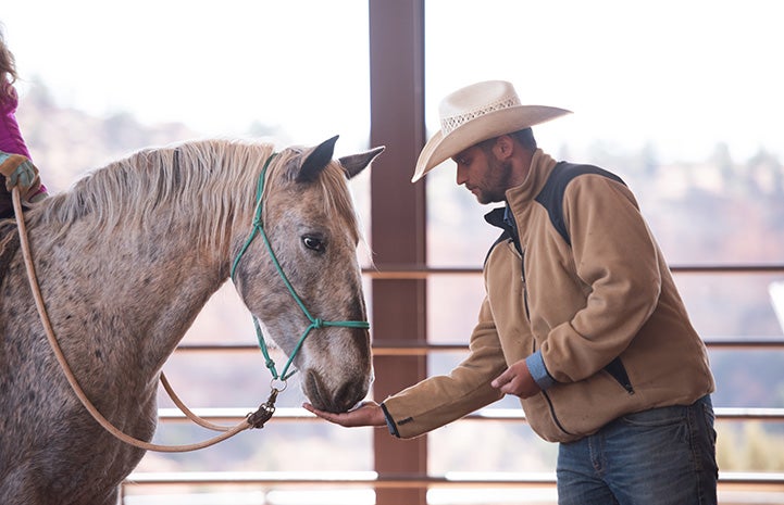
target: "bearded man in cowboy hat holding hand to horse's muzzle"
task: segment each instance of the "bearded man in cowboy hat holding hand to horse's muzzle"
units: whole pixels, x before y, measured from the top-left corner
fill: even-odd
[[[713,377],[661,251],[619,177],[537,148],[531,127],[569,111],[520,103],[505,81],[448,96],[413,176],[451,157],[458,185],[506,203],[469,356],[381,405],[306,408],[411,438],[513,394],[560,444],[559,504],[715,504]]]

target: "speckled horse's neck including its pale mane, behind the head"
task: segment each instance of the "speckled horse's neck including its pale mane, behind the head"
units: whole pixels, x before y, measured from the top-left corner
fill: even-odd
[[[204,141],[141,152],[47,199],[32,233],[49,256],[43,275],[59,279],[54,303],[85,293],[82,310],[154,371],[228,277],[267,151]]]

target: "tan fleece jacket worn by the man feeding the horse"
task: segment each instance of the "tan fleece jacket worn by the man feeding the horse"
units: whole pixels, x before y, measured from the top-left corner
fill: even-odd
[[[399,437],[498,400],[490,381],[537,350],[558,383],[521,404],[549,441],[577,440],[625,414],[688,405],[714,390],[705,345],[629,188],[599,174],[571,180],[563,198],[570,247],[534,200],[555,165],[537,150],[526,180],[507,191],[523,256],[511,240],[488,255],[468,357],[384,402]]]

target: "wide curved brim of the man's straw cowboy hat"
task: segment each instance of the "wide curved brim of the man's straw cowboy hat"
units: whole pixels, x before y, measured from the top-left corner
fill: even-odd
[[[411,182],[416,182],[444,161],[483,140],[539,125],[571,113],[565,109],[546,105],[517,105],[488,112],[455,128],[447,136],[439,130],[422,148]]]

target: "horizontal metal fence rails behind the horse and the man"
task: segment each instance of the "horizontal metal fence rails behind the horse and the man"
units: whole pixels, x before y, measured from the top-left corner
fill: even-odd
[[[373,279],[426,279],[433,275],[478,275],[478,268],[420,268],[395,267],[384,270],[366,269],[364,275]],[[743,266],[679,266],[672,267],[673,273],[685,274],[784,274],[784,265],[743,265]],[[784,337],[772,338],[707,338],[709,349],[775,349],[784,350]],[[373,353],[378,356],[415,356],[438,352],[465,351],[466,344],[422,344],[411,345],[410,342],[389,342],[383,346],[374,346]],[[182,344],[177,353],[227,353],[258,352],[251,344]],[[252,408],[195,408],[199,416],[213,422],[238,422]],[[726,408],[717,407],[718,420],[725,421],[764,421],[784,422],[784,408]],[[182,422],[187,418],[178,409],[159,409],[161,422]],[[522,409],[485,408],[465,418],[466,420],[501,420],[524,421]],[[303,408],[279,407],[271,422],[278,421],[315,421],[318,418]],[[555,472],[526,474],[450,474],[448,476],[396,475],[379,476],[375,471],[356,472],[291,472],[291,471],[251,471],[251,472],[135,472],[122,484],[123,495],[129,488],[166,487],[166,485],[256,485],[261,488],[281,487],[337,487],[340,489],[363,488],[427,488],[427,489],[463,489],[463,488],[548,488],[555,489]],[[742,493],[773,493],[781,501],[766,503],[784,503],[784,472],[720,472],[720,491],[741,490]],[[774,498],[775,500],[775,498]],[[747,503],[734,502],[732,503]],[[750,503],[750,502],[748,502]]]

